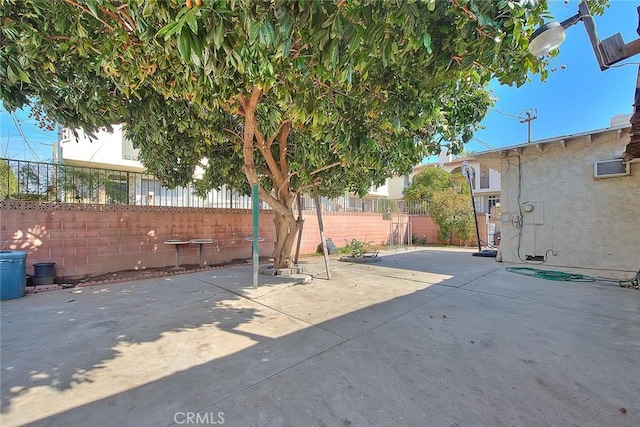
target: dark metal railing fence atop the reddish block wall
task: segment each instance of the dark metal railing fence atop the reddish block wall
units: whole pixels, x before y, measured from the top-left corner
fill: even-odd
[[[222,187],[205,197],[193,188],[168,188],[155,177],[139,172],[118,171],[2,159],[0,162],[0,199],[40,202],[97,203],[121,205],[175,206],[194,208],[251,209],[251,197]],[[404,212],[422,214],[428,205],[422,201],[358,198],[349,194],[335,199],[322,198],[324,211]],[[270,207],[261,202],[261,209]],[[303,210],[315,210],[310,196],[302,197]]]

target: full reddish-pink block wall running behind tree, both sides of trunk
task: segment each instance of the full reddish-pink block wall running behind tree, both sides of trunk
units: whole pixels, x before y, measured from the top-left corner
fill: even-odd
[[[253,233],[249,210],[159,208],[46,204],[5,200],[0,202],[2,249],[23,250],[27,274],[37,262],[55,262],[56,276],[69,279],[137,268],[164,267],[175,263],[172,238],[211,238],[204,246],[207,264],[220,264],[251,257]],[[304,212],[301,254],[313,253],[320,243],[315,212]],[[407,241],[408,216],[385,221],[381,214],[324,212],[325,237],[339,246],[358,239],[375,245],[398,236]],[[401,224],[399,224],[401,223]],[[436,241],[437,226],[428,216],[412,216],[412,234]],[[260,254],[270,256],[275,240],[273,212],[260,211]],[[181,245],[180,263],[198,263],[198,245]]]

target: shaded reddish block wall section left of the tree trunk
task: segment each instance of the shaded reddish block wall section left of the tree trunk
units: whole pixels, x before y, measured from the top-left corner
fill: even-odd
[[[204,246],[207,264],[251,256],[245,236],[253,232],[246,210],[169,209],[105,205],[47,205],[3,201],[0,206],[3,249],[23,250],[27,274],[37,262],[55,262],[56,276],[81,278],[110,271],[163,267],[175,263],[174,245],[167,239],[212,238]],[[80,210],[83,209],[83,210]],[[260,218],[265,241],[261,253],[273,248],[271,213]],[[180,263],[198,262],[198,245],[181,245]]]

